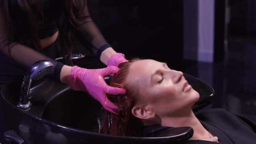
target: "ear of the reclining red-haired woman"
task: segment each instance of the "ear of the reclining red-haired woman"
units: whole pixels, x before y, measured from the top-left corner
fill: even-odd
[[[155,112],[153,112],[151,109],[147,108],[147,107],[142,107],[142,106],[134,106],[131,109],[131,113],[135,116],[138,117],[140,119],[151,119],[155,117]]]

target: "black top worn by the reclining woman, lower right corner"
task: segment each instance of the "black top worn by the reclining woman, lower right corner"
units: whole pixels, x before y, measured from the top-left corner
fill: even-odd
[[[256,143],[256,117],[234,115],[224,109],[211,109],[196,116],[223,144]],[[188,140],[182,144],[216,144],[216,142]]]

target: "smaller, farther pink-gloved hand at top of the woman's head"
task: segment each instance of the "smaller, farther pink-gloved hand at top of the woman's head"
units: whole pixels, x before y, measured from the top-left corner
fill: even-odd
[[[120,63],[128,61],[125,59],[125,55],[123,53],[115,53],[110,56],[109,60],[107,61],[107,66],[115,66],[117,67]]]

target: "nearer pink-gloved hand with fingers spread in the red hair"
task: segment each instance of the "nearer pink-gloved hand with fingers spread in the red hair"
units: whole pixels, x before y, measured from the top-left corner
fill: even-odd
[[[104,76],[114,74],[119,70],[118,67],[106,67],[103,69],[85,69],[74,66],[68,77],[69,86],[75,91],[88,92],[94,99],[109,112],[116,113],[119,109],[107,98],[106,93],[117,95],[125,94],[123,88],[114,88],[104,81]]]

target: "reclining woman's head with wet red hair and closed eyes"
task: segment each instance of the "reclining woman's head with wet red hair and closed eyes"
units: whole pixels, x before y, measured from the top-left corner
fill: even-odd
[[[144,125],[162,125],[167,117],[180,117],[192,111],[199,94],[166,63],[151,59],[132,59],[119,64],[120,70],[109,85],[125,88],[125,95],[108,95],[120,110],[111,114],[111,128],[104,132],[120,136],[139,136]]]

